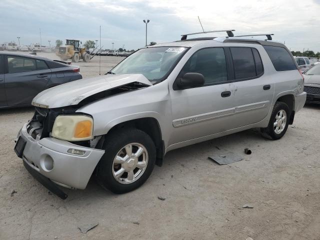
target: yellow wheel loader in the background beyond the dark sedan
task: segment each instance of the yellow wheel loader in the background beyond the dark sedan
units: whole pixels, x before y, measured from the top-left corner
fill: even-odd
[[[73,62],[78,62],[80,59],[89,61],[91,59],[89,53],[87,53],[85,48],[81,47],[79,43],[79,40],[66,39],[65,46],[59,46],[56,55],[63,61],[67,59],[72,59]]]

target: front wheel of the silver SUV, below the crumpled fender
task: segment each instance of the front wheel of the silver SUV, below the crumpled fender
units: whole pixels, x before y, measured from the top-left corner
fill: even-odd
[[[105,137],[103,147],[105,153],[96,169],[97,181],[103,188],[114,193],[129,192],[141,186],[150,176],[155,163],[155,145],[145,132],[136,128],[119,129]],[[134,156],[140,148],[142,153]],[[127,157],[130,149],[131,157]]]

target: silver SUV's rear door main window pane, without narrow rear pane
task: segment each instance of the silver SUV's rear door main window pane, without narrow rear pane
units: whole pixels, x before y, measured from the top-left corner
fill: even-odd
[[[255,64],[250,47],[230,47],[235,79],[256,76]]]

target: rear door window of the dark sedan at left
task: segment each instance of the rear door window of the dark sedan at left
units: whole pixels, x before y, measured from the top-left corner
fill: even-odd
[[[36,69],[35,60],[27,57],[8,56],[8,72],[16,73]]]

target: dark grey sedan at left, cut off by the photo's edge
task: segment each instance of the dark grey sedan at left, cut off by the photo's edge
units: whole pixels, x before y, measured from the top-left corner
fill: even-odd
[[[78,66],[31,54],[0,52],[0,108],[28,106],[40,91],[81,78]]]

